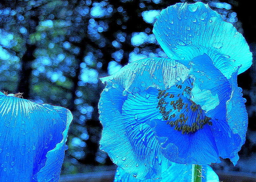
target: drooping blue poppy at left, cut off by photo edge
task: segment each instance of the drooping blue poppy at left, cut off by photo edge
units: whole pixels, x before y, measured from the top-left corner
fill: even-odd
[[[72,114],[0,92],[0,181],[58,182]]]

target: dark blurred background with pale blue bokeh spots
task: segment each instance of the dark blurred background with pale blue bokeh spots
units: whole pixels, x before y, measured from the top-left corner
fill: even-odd
[[[102,126],[97,103],[104,88],[98,78],[136,59],[166,57],[152,33],[154,17],[178,2],[195,0],[0,1],[0,90],[66,107],[74,116],[60,181],[113,180],[116,166],[98,144]],[[255,60],[252,1],[202,2],[244,35]],[[238,76],[247,100],[247,138],[237,166],[228,159],[212,165],[221,179],[256,174],[255,72],[253,64]]]

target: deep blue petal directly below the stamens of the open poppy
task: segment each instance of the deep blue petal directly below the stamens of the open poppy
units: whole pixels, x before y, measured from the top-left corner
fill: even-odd
[[[180,164],[220,163],[218,149],[209,125],[188,134],[174,130],[165,121],[152,120],[152,127],[164,156]]]

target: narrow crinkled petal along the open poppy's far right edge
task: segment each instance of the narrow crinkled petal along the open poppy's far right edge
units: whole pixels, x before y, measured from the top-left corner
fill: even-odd
[[[240,69],[240,68],[238,68]],[[241,138],[238,151],[241,149],[241,146],[245,142],[245,134],[248,125],[248,115],[244,102],[246,101],[242,97],[242,89],[237,85],[237,74],[238,70],[232,74],[231,79],[229,79],[232,93],[231,98],[227,102],[227,121],[234,134],[238,134]],[[234,164],[238,161],[238,156],[234,159],[231,159]]]

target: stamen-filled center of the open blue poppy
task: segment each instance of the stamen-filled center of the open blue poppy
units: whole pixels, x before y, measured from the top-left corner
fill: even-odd
[[[189,80],[189,79],[188,79]],[[203,125],[212,125],[211,118],[205,116],[200,105],[189,99],[193,82],[185,81],[166,90],[159,90],[158,105],[163,120],[182,134],[195,132]],[[185,88],[183,86],[186,86]],[[183,89],[182,89],[183,87]]]

